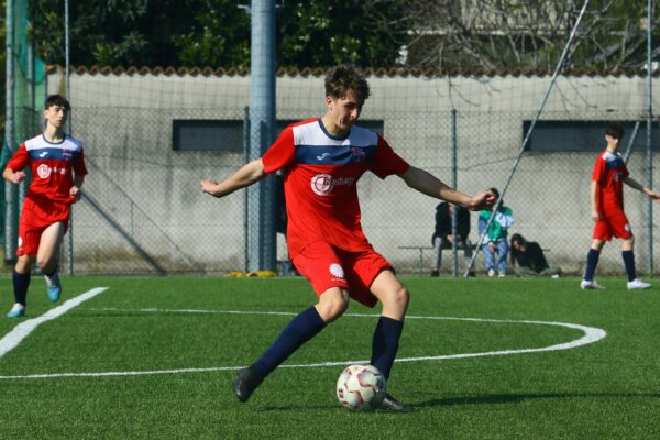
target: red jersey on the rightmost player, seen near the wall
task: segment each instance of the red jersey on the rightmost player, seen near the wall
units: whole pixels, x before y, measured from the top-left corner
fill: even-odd
[[[598,184],[596,209],[601,213],[608,208],[624,207],[624,180],[629,174],[620,154],[605,150],[598,155],[594,164],[592,180]]]

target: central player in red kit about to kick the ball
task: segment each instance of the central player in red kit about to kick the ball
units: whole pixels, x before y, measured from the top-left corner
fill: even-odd
[[[383,304],[371,363],[389,377],[409,294],[362,231],[356,183],[365,172],[381,178],[397,175],[420,193],[470,210],[488,209],[495,201],[490,191],[470,197],[448,187],[408,165],[375,132],[354,125],[369,96],[369,84],[355,68],[332,68],[326,76],[327,112],[322,118],[289,125],[263,157],[223,182],[201,182],[202,191],[224,197],[283,169],[289,255],[318,296],[316,306],[294,318],[256,362],[238,373],[233,388],[241,402],[300,345],[339,318],[349,298],[369,307],[378,300]],[[381,408],[411,409],[391,395]]]

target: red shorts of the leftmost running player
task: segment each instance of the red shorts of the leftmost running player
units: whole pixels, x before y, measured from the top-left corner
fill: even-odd
[[[64,222],[64,231],[68,228],[70,205],[40,198],[26,197],[19,221],[19,246],[16,255],[36,255],[44,229],[58,221]]]

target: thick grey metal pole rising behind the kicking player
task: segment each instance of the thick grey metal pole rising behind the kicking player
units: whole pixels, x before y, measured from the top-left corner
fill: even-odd
[[[275,1],[252,0],[250,160],[261,157],[275,133]],[[275,182],[250,188],[250,270],[276,270]]]

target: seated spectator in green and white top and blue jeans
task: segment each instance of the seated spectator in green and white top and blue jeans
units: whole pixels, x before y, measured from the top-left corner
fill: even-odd
[[[491,188],[491,191],[499,199],[499,191],[496,188]],[[496,202],[497,211],[495,218],[491,222],[488,230],[485,232],[485,238],[482,244],[484,252],[486,273],[492,278],[495,276],[495,267],[499,277],[506,276],[506,258],[508,256],[508,229],[514,224],[514,215],[509,207],[504,206],[504,200]],[[479,234],[483,235],[486,230],[486,224],[491,218],[492,210],[483,210],[479,213]],[[497,255],[495,255],[497,254]],[[495,261],[497,257],[497,261]]]

